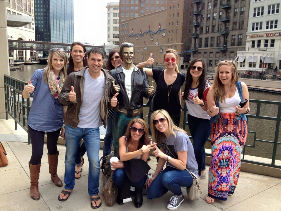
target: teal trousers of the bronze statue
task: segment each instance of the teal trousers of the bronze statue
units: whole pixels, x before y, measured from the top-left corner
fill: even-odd
[[[143,114],[141,113],[136,117],[128,118],[124,113],[116,112],[116,111],[114,112],[114,116],[113,116],[114,156],[117,155],[117,152],[119,150],[119,138],[125,135],[129,122],[135,118],[143,119]]]

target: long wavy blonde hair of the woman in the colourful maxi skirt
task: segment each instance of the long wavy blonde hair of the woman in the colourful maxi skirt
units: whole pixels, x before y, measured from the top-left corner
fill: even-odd
[[[224,89],[224,85],[221,83],[221,81],[219,79],[219,68],[223,65],[227,65],[227,66],[231,67],[232,79],[231,79],[230,88],[233,88],[236,81],[238,81],[238,79],[239,79],[236,63],[231,60],[224,60],[224,61],[225,62],[223,62],[223,63],[218,63],[217,66],[215,67],[214,83],[211,87],[214,92],[215,100],[217,101],[217,98],[219,98],[219,102],[221,102],[221,103],[223,101],[225,101],[226,91]],[[228,61],[231,61],[231,62],[228,62]]]

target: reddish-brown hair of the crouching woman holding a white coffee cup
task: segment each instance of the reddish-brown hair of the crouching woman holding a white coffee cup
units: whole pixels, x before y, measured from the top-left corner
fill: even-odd
[[[126,137],[127,137],[127,140],[128,142],[130,141],[130,138],[131,138],[131,130],[130,128],[132,127],[133,124],[135,123],[140,123],[142,125],[142,127],[144,128],[145,132],[142,134],[140,140],[139,140],[139,145],[138,145],[138,149],[142,148],[143,145],[148,145],[150,144],[150,139],[148,138],[148,129],[146,127],[146,123],[143,119],[141,118],[135,118],[135,119],[132,119],[129,124],[128,124],[128,127],[127,127],[127,131],[126,131]]]

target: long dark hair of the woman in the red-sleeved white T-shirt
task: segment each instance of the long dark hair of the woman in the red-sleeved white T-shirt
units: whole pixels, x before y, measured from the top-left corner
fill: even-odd
[[[191,84],[192,84],[192,75],[190,74],[190,67],[192,65],[194,65],[196,62],[202,62],[203,65],[203,71],[202,74],[199,77],[199,85],[198,85],[198,97],[200,99],[202,99],[203,96],[203,92],[207,86],[206,83],[210,83],[208,78],[206,77],[206,68],[205,68],[205,63],[203,61],[203,59],[201,58],[195,58],[192,60],[192,62],[190,63],[189,67],[187,68],[187,72],[186,72],[186,80],[185,80],[185,94],[184,94],[184,99],[187,100],[188,99],[188,94],[191,88]]]

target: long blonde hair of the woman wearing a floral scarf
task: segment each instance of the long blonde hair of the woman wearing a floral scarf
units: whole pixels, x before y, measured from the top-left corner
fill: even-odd
[[[48,64],[46,68],[44,68],[44,82],[48,83],[48,77],[50,70],[52,69],[52,58],[53,55],[56,54],[58,57],[64,59],[64,66],[61,69],[62,73],[64,74],[64,78],[67,78],[67,55],[64,51],[61,51],[57,49],[56,51],[50,51],[49,57],[48,57]]]

